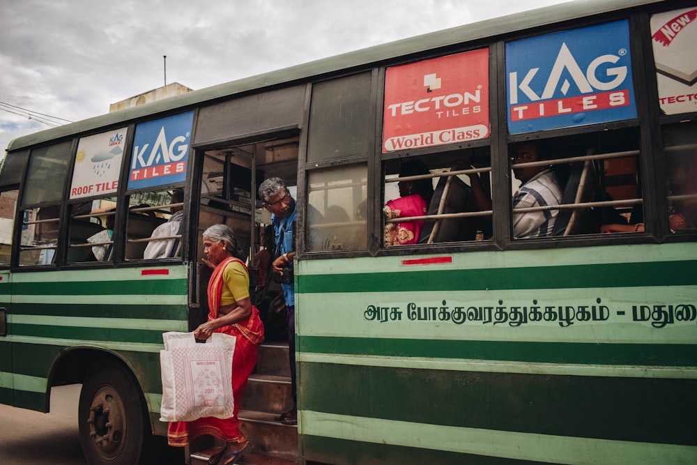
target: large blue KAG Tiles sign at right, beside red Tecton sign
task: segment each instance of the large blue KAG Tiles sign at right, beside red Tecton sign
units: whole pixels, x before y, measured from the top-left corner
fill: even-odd
[[[626,20],[506,43],[510,134],[636,118]]]

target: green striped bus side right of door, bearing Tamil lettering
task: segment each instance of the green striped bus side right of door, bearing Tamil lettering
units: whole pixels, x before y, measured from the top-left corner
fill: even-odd
[[[303,457],[695,463],[691,257],[682,243],[300,261]]]

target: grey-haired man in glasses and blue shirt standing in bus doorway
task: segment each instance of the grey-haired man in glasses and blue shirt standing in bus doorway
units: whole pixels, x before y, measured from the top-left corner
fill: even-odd
[[[286,300],[288,312],[288,353],[291,368],[291,395],[293,408],[275,419],[286,425],[298,424],[297,387],[296,387],[296,288],[291,280],[293,258],[296,256],[295,222],[296,201],[286,188],[281,178],[268,178],[259,186],[259,197],[263,207],[271,213],[271,222],[275,231],[276,254],[273,261],[274,273],[284,278],[281,287]]]

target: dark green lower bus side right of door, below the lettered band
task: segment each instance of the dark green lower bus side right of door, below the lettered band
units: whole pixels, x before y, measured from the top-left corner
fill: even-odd
[[[313,436],[308,441],[319,447],[323,439],[329,440],[324,446],[332,447],[342,439],[344,450],[335,453],[346,463],[369,462],[371,456],[364,455],[362,445],[375,441],[404,449],[395,452],[399,455],[436,449],[539,462],[553,462],[551,457],[573,461],[581,450],[596,450],[602,444],[599,463],[623,462],[629,443],[636,450],[629,457],[637,461],[628,463],[650,457],[648,463],[658,463],[655,460],[661,457],[685,458],[697,446],[693,434],[697,403],[689,400],[697,389],[694,379],[332,363],[302,363],[300,370],[302,434]],[[399,455],[390,460],[400,463]],[[585,452],[586,458],[592,455],[596,454]],[[323,454],[306,458],[335,463]],[[461,462],[465,459],[442,463]]]

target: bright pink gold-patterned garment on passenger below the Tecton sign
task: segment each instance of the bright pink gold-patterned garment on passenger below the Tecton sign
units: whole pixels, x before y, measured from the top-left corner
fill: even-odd
[[[388,201],[385,206],[385,218],[406,218],[408,216],[426,215],[426,201],[420,195],[408,195]],[[419,234],[424,220],[385,224],[385,245],[407,245],[419,241]]]

